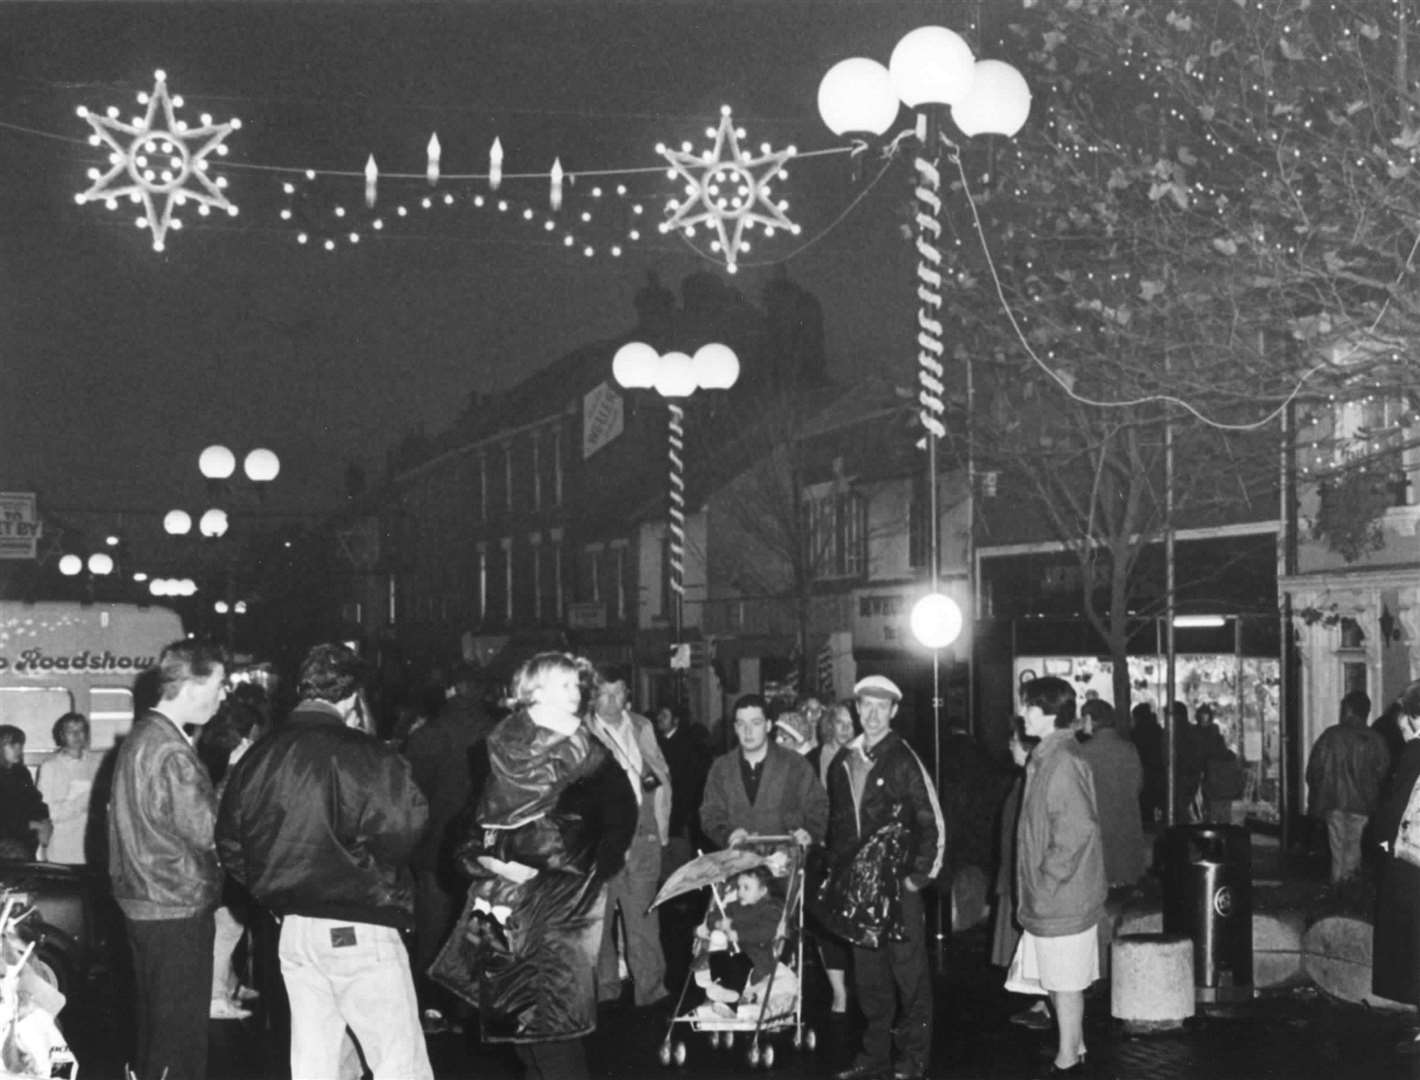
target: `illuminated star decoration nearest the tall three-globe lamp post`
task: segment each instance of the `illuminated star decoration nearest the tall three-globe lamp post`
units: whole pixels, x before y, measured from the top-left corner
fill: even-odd
[[[720,126],[706,129],[706,135],[714,139],[714,146],[700,156],[690,152],[689,142],[679,150],[665,143],[656,146],[656,153],[670,162],[666,175],[686,180],[686,199],[666,203],[669,217],[660,223],[660,231],[679,228],[689,237],[696,226],[710,223],[720,237],[710,248],[724,254],[726,268],[733,274],[740,253],[750,250],[746,230],[760,224],[765,236],[774,236],[775,228],[798,234],[799,227],[784,213],[788,203],[774,202],[770,192],[770,180],[788,176],[784,162],[797,150],[792,146],[771,150],[765,143],[758,158],[750,158],[740,149],[744,129],[734,126],[728,105],[720,106]]]

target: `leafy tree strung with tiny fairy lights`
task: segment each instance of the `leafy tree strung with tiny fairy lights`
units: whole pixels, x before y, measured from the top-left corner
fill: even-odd
[[[963,149],[947,203],[949,385],[974,395],[949,427],[1076,553],[1127,700],[1135,578],[1166,528],[1272,517],[1285,446],[1353,497],[1314,518],[1353,558],[1355,511],[1396,487],[1417,434],[1414,33],[1406,0],[1068,0],[1003,37],[1035,119]],[[984,504],[987,534],[1014,502]]]

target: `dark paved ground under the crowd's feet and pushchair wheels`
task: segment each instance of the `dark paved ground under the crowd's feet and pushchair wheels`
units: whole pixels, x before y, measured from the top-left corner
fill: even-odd
[[[1008,1023],[1025,999],[1001,989],[998,971],[981,958],[987,940],[973,931],[951,944],[946,972],[937,981],[937,1037],[932,1074],[941,1080],[1030,1080],[1048,1069],[1051,1039]],[[812,974],[812,972],[811,972]],[[856,1030],[822,1020],[821,995],[807,998],[816,1049],[795,1050],[788,1037],[775,1040],[774,1074],[784,1080],[826,1077],[846,1063]],[[1411,1064],[1394,1054],[1394,1042],[1407,1033],[1403,1018],[1375,1013],[1328,1001],[1306,989],[1271,993],[1244,1006],[1230,1006],[1198,1018],[1174,1035],[1127,1037],[1109,1018],[1108,992],[1089,1002],[1088,1043],[1091,1076],[1100,1080],[1159,1080],[1208,1077],[1409,1077],[1420,1080],[1420,1060]],[[85,1080],[122,1076],[122,1042],[111,1009],[75,1012],[68,1027]],[[657,1050],[666,1035],[666,1013],[612,1006],[602,1012],[601,1027],[588,1040],[594,1076],[606,1080],[679,1073],[686,1077],[754,1074],[746,1062],[746,1045],[733,1052],[710,1046],[707,1036],[677,1025],[684,1035],[687,1059],[680,1069],[663,1069]],[[440,1079],[515,1080],[511,1054],[481,1047],[474,1037],[440,1035],[430,1039],[430,1054]],[[283,1080],[284,1049],[280,1036],[260,1018],[213,1023],[212,1080]],[[334,1080],[334,1079],[332,1079]]]

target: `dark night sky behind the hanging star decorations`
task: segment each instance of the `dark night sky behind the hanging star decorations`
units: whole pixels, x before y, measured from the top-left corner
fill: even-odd
[[[437,131],[446,175],[486,170],[494,136],[507,173],[544,172],[554,156],[574,175],[648,167],[662,163],[659,140],[707,146],[721,104],[754,146],[826,149],[835,143],[815,92],[832,62],[886,62],[907,30],[964,30],[974,7],[0,6],[0,490],[37,490],[70,517],[102,511],[95,524],[118,512],[156,519],[172,505],[200,509],[196,454],[224,441],[281,456],[268,509],[324,511],[341,498],[346,461],[375,477],[405,433],[440,430],[470,392],[625,334],[648,271],[679,287],[714,268],[655,231],[677,193],[663,172],[629,182],[652,227],[613,260],[466,203],[334,253],[302,247],[297,224],[278,217],[284,175],[253,166],[358,172],[373,152],[386,173],[422,173]],[[155,68],[186,99],[179,118],[243,122],[229,158],[214,159],[239,217],[199,219],[189,206],[163,253],[126,204],[74,202],[102,162],[75,106],[139,112],[135,94],[152,89]],[[591,183],[568,187],[572,211]],[[322,180],[304,206],[362,213],[362,187]],[[824,302],[832,370],[890,368],[906,382],[906,163],[846,216],[862,189],[843,156],[791,163],[780,187],[804,231],[760,237],[747,258],[757,265],[731,284],[757,302],[782,260]],[[444,190],[466,200],[480,187],[446,183],[435,194]],[[410,193],[429,187],[383,182],[379,210]],[[545,193],[541,179],[500,192],[544,210]],[[585,234],[605,246],[611,226],[596,227]]]

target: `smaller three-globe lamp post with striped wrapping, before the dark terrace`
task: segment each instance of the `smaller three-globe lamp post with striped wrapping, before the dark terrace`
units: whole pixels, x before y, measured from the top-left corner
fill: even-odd
[[[686,602],[686,410],[683,400],[696,390],[728,390],[740,378],[740,358],[728,345],[710,342],[684,352],[659,353],[655,346],[632,341],[612,358],[612,376],[628,390],[652,389],[666,399],[667,421],[667,582],[670,585],[672,667],[676,670],[676,698],[680,698],[679,656]]]

